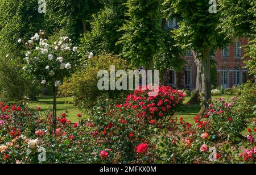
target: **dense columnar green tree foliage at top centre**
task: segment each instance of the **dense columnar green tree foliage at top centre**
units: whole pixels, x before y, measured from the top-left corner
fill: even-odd
[[[126,6],[129,20],[121,28],[125,32],[118,42],[122,45],[121,55],[133,64],[150,67],[162,35],[160,1],[128,0]]]

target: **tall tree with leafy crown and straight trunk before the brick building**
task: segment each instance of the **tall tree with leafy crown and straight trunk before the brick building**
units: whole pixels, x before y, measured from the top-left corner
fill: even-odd
[[[181,22],[176,30],[176,39],[184,48],[192,48],[200,53],[203,109],[208,107],[211,99],[210,52],[217,47],[224,47],[224,36],[217,28],[220,23],[220,12],[209,12],[209,1],[167,0],[171,12],[179,14]]]

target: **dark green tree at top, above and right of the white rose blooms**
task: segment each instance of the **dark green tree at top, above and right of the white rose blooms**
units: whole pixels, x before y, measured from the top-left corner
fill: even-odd
[[[46,21],[47,33],[54,29],[63,29],[77,43],[81,34],[90,31],[92,14],[98,12],[100,0],[47,0]]]

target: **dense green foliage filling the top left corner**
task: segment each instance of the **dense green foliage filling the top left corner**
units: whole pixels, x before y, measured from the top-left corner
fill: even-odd
[[[38,12],[38,0],[3,0],[0,2],[0,55],[20,55],[19,38],[30,38],[44,26]],[[2,20],[5,19],[5,20]]]

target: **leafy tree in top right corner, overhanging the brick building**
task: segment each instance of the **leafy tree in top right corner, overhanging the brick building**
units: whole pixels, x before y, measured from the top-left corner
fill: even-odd
[[[246,67],[256,76],[256,1],[219,0],[221,11],[221,28],[226,37],[232,39],[246,37]]]

